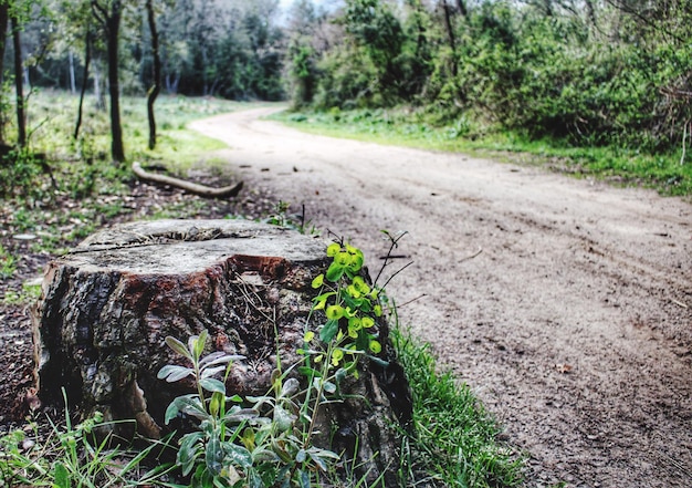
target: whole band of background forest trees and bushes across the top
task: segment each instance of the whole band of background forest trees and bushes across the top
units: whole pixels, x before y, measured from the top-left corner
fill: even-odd
[[[658,155],[657,179],[673,193],[684,179],[667,168],[685,163],[691,138],[689,0],[282,4],[1,0],[0,31],[9,34],[0,46],[2,138],[25,144],[27,115],[19,112],[33,89],[84,89],[103,110],[108,93],[113,116],[119,95],[156,86],[191,96],[291,98],[295,108],[335,120],[347,110],[398,107],[386,123],[403,117],[448,126],[452,137],[503,133]],[[118,124],[112,118],[115,138]],[[122,147],[113,157],[125,159]]]

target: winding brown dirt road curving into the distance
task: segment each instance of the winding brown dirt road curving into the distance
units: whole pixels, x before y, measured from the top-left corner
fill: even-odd
[[[530,486],[692,486],[692,205],[459,154],[218,116],[193,128],[361,247],[407,230],[389,285],[530,456]],[[402,260],[401,263],[407,262]],[[391,268],[394,270],[394,268]]]

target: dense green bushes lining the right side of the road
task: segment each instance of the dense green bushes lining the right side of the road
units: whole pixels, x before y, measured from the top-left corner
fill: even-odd
[[[343,42],[311,74],[314,105],[423,105],[444,123],[670,154],[692,121],[689,3],[347,0],[333,20]]]

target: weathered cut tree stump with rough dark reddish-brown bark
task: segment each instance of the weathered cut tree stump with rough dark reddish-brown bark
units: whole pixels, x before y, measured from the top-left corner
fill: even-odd
[[[232,366],[228,394],[265,394],[277,356],[284,371],[298,363],[306,328],[317,325],[308,323],[311,282],[328,264],[325,248],[245,220],[133,222],[87,238],[46,269],[34,313],[41,401],[62,403],[64,388],[72,413],[135,418],[140,434],[158,437],[166,407],[191,393],[157,378],[161,366],[184,362],[165,339],[187,342],[203,330],[209,352],[245,356]],[[361,361],[346,393],[365,398],[331,405],[324,422],[337,424],[328,447],[357,446],[370,476],[390,478],[398,466],[391,425],[407,420],[410,396],[387,324],[378,326],[389,365]]]

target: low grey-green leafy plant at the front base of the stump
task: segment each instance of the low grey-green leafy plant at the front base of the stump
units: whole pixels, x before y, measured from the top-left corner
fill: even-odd
[[[207,339],[203,331],[186,346],[166,338],[168,346],[191,366],[166,365],[159,371],[159,377],[168,382],[192,376],[197,385],[197,393],[175,398],[166,411],[167,424],[180,414],[200,420],[198,430],[180,438],[177,464],[182,474],[191,475],[193,487],[310,486],[311,471],[326,470],[338,456],[296,436],[294,427],[305,415],[297,415],[294,399],[298,381],[275,373],[266,395],[229,397],[224,382],[213,376],[224,370],[228,374],[231,362],[241,356],[216,352],[202,357]],[[252,407],[242,407],[243,402]]]

